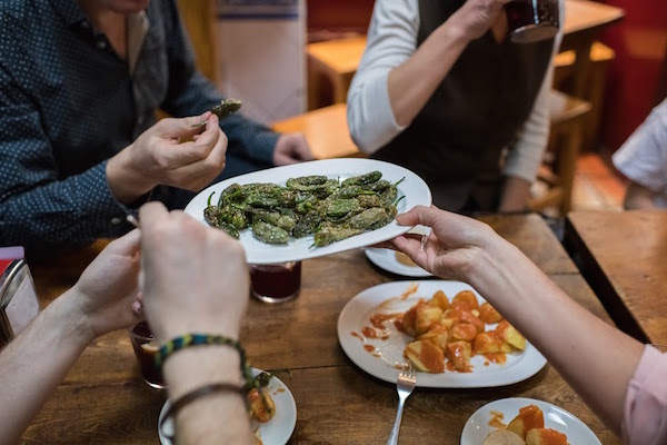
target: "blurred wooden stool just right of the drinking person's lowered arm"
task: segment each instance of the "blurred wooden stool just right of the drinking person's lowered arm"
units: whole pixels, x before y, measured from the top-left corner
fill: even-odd
[[[534,187],[541,190],[528,204],[531,210],[557,207],[561,215],[570,210],[577,158],[581,149],[584,125],[590,110],[590,102],[551,90],[551,132],[545,162],[538,172],[537,187]]]

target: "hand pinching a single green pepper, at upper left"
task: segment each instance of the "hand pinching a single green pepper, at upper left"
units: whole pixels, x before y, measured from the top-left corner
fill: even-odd
[[[203,132],[192,127],[203,120],[208,120]],[[227,136],[210,111],[199,117],[161,119],[109,159],[107,179],[113,196],[123,204],[158,185],[199,191],[225,169],[226,152]]]

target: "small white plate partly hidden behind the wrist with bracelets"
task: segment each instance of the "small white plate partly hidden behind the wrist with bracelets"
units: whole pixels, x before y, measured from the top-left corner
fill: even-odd
[[[252,376],[260,374],[262,370],[252,368]],[[252,431],[261,439],[263,445],[285,445],[291,437],[295,426],[297,425],[297,404],[289,388],[278,378],[271,377],[269,385],[266,388],[276,404],[276,415],[269,422],[262,424],[252,421]],[[173,435],[173,423],[167,419],[162,428],[162,417],[171,405],[170,400],[165,402],[160,411],[158,421],[158,435],[160,436],[161,445],[172,445],[167,436]]]

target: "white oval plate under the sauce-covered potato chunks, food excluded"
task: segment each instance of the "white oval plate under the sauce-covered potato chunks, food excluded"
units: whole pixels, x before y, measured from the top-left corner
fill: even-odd
[[[414,286],[417,286],[417,291],[401,298]],[[486,301],[475,289],[460,281],[392,281],[370,287],[350,299],[338,317],[338,342],[342,350],[368,374],[385,382],[396,383],[398,368],[405,362],[404,350],[412,338],[399,332],[394,324],[388,324],[389,335],[386,339],[367,338],[361,333],[362,328],[372,326],[369,322],[370,315],[406,312],[417,304],[419,298],[430,299],[437,290],[442,290],[450,300],[461,290],[472,290],[480,304]],[[494,327],[488,325],[487,330]],[[366,350],[365,347],[370,350]],[[479,388],[509,385],[531,377],[547,363],[530,343],[526,344],[524,352],[508,354],[507,362],[502,365],[487,362],[482,356],[472,357],[471,373],[417,373],[417,386]]]

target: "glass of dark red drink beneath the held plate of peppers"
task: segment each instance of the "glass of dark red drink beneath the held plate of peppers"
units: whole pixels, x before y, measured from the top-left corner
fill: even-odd
[[[301,261],[250,265],[250,293],[265,303],[288,301],[301,290]]]

